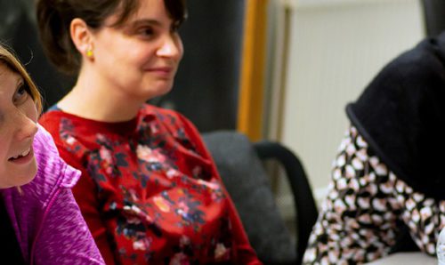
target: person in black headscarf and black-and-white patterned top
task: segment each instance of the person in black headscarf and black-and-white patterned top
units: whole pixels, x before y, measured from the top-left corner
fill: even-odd
[[[392,60],[347,106],[352,125],[304,264],[365,263],[407,249],[435,255],[445,227],[444,100],[441,34]]]

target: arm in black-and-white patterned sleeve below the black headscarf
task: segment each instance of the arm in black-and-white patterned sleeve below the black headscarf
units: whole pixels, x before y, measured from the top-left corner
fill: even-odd
[[[387,255],[395,244],[401,205],[395,178],[351,128],[341,144],[328,198],[322,205],[304,264],[362,263]]]

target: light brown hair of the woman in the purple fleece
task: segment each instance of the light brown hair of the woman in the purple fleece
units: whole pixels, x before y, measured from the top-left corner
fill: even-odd
[[[42,98],[40,97],[40,92],[38,92],[36,84],[34,84],[20,61],[2,44],[0,44],[0,64],[4,64],[7,68],[10,68],[12,72],[19,74],[23,78],[26,84],[25,88],[34,100],[37,111],[40,113],[42,111]]]

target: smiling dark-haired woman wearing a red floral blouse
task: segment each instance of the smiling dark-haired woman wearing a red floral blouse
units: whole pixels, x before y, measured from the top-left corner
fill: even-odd
[[[107,264],[261,264],[193,124],[145,104],[182,58],[183,0],[39,0],[53,63],[78,73],[40,123],[82,170],[77,203]]]

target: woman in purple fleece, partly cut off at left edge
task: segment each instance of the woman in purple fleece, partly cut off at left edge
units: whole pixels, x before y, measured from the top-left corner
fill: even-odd
[[[40,108],[36,85],[0,45],[0,262],[104,264],[70,190],[80,173],[36,124]]]

